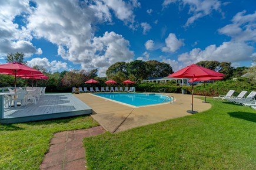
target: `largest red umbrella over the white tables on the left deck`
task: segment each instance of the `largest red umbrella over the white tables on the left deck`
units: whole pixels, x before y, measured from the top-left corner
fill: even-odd
[[[40,71],[32,69],[22,63],[10,62],[6,64],[0,64],[0,72],[4,74],[11,74],[15,76],[14,91],[16,92],[16,76],[21,74],[42,74]]]

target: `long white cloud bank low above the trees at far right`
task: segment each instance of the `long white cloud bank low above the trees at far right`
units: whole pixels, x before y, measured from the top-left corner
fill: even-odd
[[[204,50],[192,49],[189,53],[182,53],[178,61],[189,65],[203,60],[218,62],[241,62],[251,60],[254,47],[242,42],[223,42],[222,45],[210,45]]]

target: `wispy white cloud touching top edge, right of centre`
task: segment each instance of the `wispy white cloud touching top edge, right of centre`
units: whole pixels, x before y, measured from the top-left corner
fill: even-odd
[[[202,18],[204,16],[210,15],[213,11],[221,12],[221,1],[218,0],[165,0],[162,3],[164,8],[167,8],[169,4],[179,3],[181,6],[189,6],[188,14],[192,15],[188,18],[185,26],[189,26],[194,23],[197,19]],[[222,13],[222,16],[224,14]]]

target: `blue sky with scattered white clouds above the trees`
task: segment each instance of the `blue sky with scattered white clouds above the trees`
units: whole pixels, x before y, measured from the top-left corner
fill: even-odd
[[[52,72],[135,59],[171,64],[202,60],[252,66],[256,1],[56,0],[0,2],[0,63],[24,52]]]

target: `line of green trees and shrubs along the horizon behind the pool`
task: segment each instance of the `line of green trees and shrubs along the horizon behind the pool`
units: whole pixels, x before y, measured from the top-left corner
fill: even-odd
[[[6,62],[20,62],[26,64],[23,53],[8,54]],[[231,67],[231,63],[217,62],[217,61],[201,61],[196,63],[199,66],[206,67],[211,70],[225,74],[225,80],[232,79],[233,77],[240,77],[243,74],[250,72],[251,80],[255,82],[255,69],[256,67]],[[104,81],[113,79],[118,82],[116,86],[121,86],[122,81],[132,80],[140,83],[141,80],[148,79],[149,77],[165,77],[173,73],[172,67],[168,63],[158,62],[157,60],[134,60],[132,62],[117,62],[108,67],[107,77],[99,77],[98,69],[86,72],[85,70],[72,70],[63,72],[50,72],[42,66],[34,66],[34,69],[40,70],[49,79],[36,80],[37,86],[46,86],[46,91],[52,92],[67,92],[71,87],[90,87],[91,84],[84,82],[89,79],[99,81],[95,86],[106,86]],[[9,87],[14,86],[14,76],[0,74],[0,86]],[[35,81],[34,81],[35,83]],[[17,86],[32,86],[32,80],[18,79]],[[34,84],[35,86],[35,84]]]

